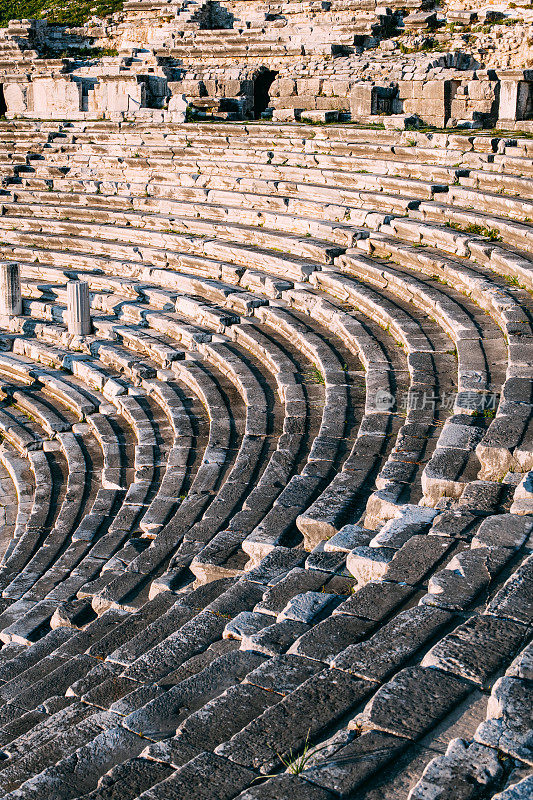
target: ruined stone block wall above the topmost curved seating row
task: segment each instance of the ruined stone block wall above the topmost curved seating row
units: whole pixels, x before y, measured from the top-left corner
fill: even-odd
[[[437,127],[512,128],[523,121],[527,129],[533,104],[527,8],[520,9],[523,26],[500,26],[501,33],[489,25],[484,34],[465,31],[484,27],[472,25],[478,16],[491,20],[486,9],[478,14],[451,5],[437,15],[423,5],[407,11],[374,0],[352,5],[324,11],[320,4],[237,0],[163,5],[150,16],[149,4],[132,2],[110,21],[81,29],[12,23],[3,34],[7,116],[177,121],[189,108],[199,118],[246,119],[254,116],[255,87],[265,84],[268,97],[255,116],[278,121],[303,113],[310,121],[396,117],[401,125],[403,115]],[[516,57],[506,50],[511,35],[520,42]],[[496,52],[483,47],[486,36]],[[424,53],[429,40],[437,48],[446,43],[453,55]],[[69,47],[119,55],[77,61],[39,56],[39,48],[50,54]]]

